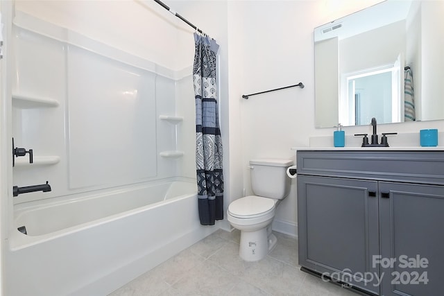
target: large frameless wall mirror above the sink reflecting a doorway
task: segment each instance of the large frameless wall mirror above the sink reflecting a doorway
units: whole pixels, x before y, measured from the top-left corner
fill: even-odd
[[[315,28],[316,128],[444,119],[443,13],[386,0]]]

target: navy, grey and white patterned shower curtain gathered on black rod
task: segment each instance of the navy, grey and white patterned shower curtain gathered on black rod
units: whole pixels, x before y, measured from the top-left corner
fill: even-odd
[[[196,101],[196,175],[200,224],[223,219],[222,139],[216,93],[219,45],[194,33],[194,98]]]

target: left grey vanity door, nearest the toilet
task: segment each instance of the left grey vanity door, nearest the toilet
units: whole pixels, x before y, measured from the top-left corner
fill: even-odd
[[[301,266],[379,293],[377,182],[298,175],[298,236]]]

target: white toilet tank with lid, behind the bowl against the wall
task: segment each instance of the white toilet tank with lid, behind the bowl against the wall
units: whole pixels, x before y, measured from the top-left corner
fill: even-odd
[[[251,189],[264,198],[282,200],[290,192],[291,179],[287,168],[293,165],[291,159],[250,160]]]

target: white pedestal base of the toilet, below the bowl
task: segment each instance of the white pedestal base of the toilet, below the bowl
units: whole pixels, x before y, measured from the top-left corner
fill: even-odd
[[[241,231],[239,244],[239,256],[244,261],[259,261],[273,250],[278,239],[274,234],[269,234],[268,227],[254,232]]]

